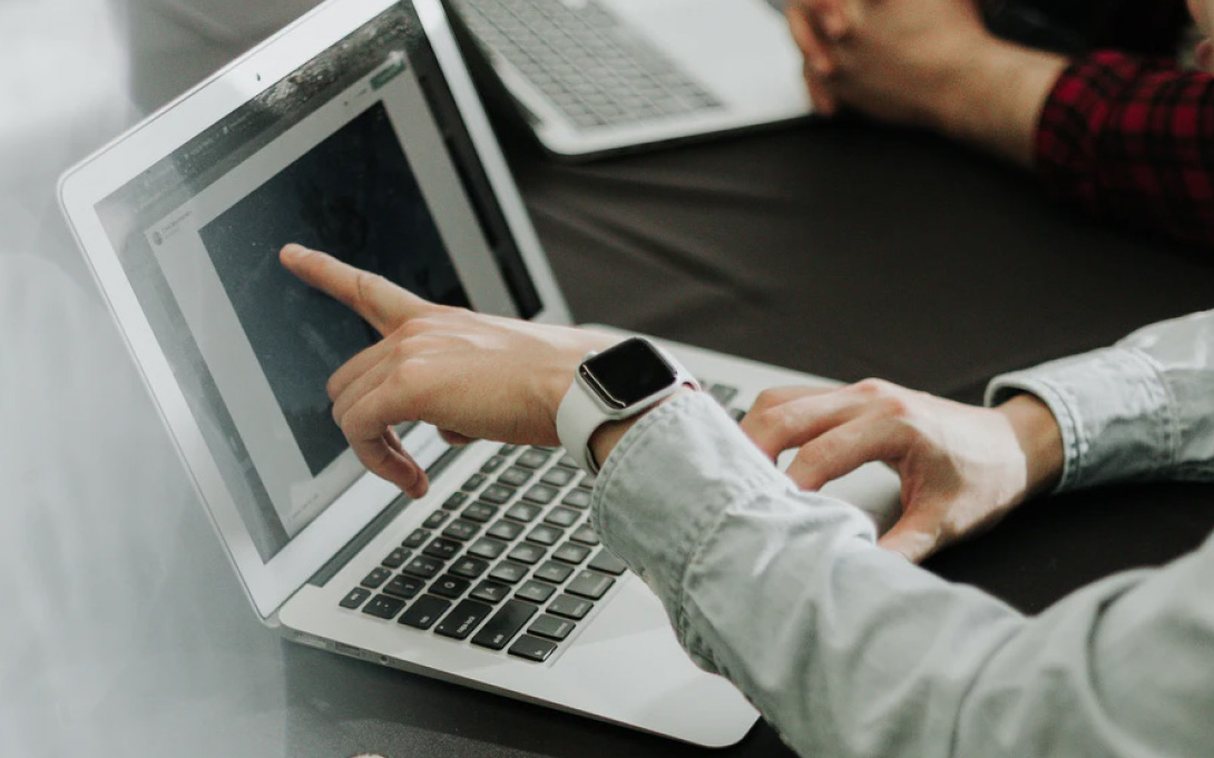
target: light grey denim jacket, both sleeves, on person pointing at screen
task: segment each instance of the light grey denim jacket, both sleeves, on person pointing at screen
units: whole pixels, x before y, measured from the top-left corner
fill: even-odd
[[[1061,424],[1061,489],[1214,478],[1214,312],[999,377],[988,401],[1021,391]],[[692,659],[804,756],[1214,756],[1214,540],[1026,617],[875,547],[702,394],[629,431],[592,508]]]

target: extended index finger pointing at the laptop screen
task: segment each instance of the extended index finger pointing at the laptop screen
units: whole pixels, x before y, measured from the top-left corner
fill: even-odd
[[[380,275],[354,268],[302,245],[287,245],[279,261],[306,284],[325,292],[367,319],[381,335],[427,313],[433,306]]]

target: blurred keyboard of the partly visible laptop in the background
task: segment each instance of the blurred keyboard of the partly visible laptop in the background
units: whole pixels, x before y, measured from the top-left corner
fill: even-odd
[[[597,0],[456,0],[482,45],[579,131],[720,109],[721,102]]]

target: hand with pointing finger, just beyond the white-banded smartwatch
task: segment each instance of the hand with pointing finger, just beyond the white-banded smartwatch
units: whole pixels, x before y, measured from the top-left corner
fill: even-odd
[[[283,266],[345,303],[384,338],[329,378],[333,418],[358,460],[414,497],[427,488],[392,427],[425,421],[452,443],[558,444],[556,410],[589,350],[612,337],[427,302],[299,245]]]

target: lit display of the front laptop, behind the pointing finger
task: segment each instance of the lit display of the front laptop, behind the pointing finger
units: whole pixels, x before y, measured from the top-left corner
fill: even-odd
[[[324,386],[379,338],[288,274],[284,244],[439,303],[541,307],[407,4],[96,210],[262,562],[362,475]]]

